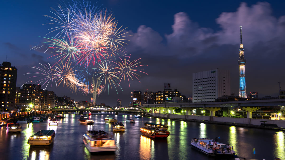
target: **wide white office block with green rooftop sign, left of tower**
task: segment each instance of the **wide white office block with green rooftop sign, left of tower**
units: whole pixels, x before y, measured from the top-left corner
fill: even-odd
[[[193,102],[215,102],[224,95],[231,95],[230,73],[213,69],[193,73]]]

